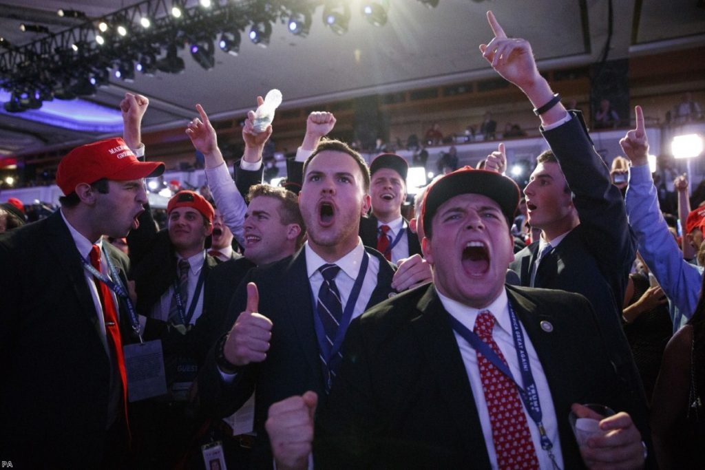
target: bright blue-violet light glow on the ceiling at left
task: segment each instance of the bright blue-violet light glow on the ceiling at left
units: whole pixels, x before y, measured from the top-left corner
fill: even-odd
[[[0,90],[0,102],[9,100],[10,94]],[[0,106],[0,113],[82,132],[119,133],[123,130],[123,118],[119,109],[82,99],[44,101],[40,109],[28,109],[21,113],[8,113]]]

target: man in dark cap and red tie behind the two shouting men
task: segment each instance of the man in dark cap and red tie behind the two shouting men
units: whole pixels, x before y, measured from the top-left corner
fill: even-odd
[[[419,237],[401,215],[408,171],[409,163],[396,154],[381,154],[372,160],[369,164],[372,214],[360,221],[362,243],[376,248],[394,263],[421,254]]]

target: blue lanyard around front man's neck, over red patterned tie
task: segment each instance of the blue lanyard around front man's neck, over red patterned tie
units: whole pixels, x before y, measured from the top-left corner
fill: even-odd
[[[486,357],[492,364],[494,364],[494,366],[496,366],[497,369],[499,369],[501,373],[507,376],[507,378],[514,383],[522,402],[524,402],[524,406],[526,407],[529,416],[532,421],[536,423],[537,428],[539,428],[541,448],[548,452],[554,468],[557,468],[558,465],[556,464],[556,459],[553,457],[553,453],[551,452],[551,449],[553,449],[553,443],[551,443],[551,439],[548,438],[546,428],[544,428],[544,423],[542,421],[543,413],[541,412],[539,391],[537,390],[536,381],[534,381],[534,375],[531,371],[531,364],[529,364],[529,354],[526,350],[524,333],[522,332],[522,328],[519,325],[519,321],[517,320],[517,316],[514,313],[512,305],[508,303],[507,306],[509,307],[509,318],[512,322],[512,335],[514,337],[514,346],[517,350],[517,360],[519,361],[519,366],[522,373],[522,382],[524,383],[523,388],[515,380],[512,371],[509,370],[509,366],[498,357],[498,355],[494,352],[494,350],[492,350],[491,347],[489,347],[489,345],[486,344],[486,342],[481,340],[474,333],[474,331],[468,329],[465,325],[460,323],[460,321],[458,321],[458,319],[456,319],[453,315],[448,315],[448,317],[450,318],[450,324],[453,326],[455,333],[462,336],[462,338],[467,341],[475,351]]]

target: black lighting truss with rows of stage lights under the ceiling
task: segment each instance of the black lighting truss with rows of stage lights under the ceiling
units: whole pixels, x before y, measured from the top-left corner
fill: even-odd
[[[439,0],[419,1],[429,7],[439,4]],[[360,16],[382,26],[390,14],[389,4],[389,0],[361,0],[356,5],[362,7]],[[209,69],[220,54],[215,45],[236,56],[245,33],[253,43],[266,47],[275,24],[306,37],[312,17],[321,11],[324,25],[332,32],[348,31],[350,0],[143,0],[99,18],[63,9],[57,14],[75,19],[77,25],[47,35],[47,26],[23,23],[24,31],[43,37],[22,47],[0,37],[0,88],[18,92],[7,107],[22,111],[27,108],[19,102],[23,90],[46,89],[47,97],[53,93],[58,99],[72,99],[76,92],[109,85],[114,73],[119,80],[133,80],[135,62],[137,71],[145,75],[181,73],[185,66],[180,49],[187,44],[195,61]]]

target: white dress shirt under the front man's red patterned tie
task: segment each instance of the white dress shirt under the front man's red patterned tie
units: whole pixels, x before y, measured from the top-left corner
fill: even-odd
[[[436,290],[436,292],[438,291]],[[514,378],[517,381],[521,381],[522,373],[517,359],[517,350],[514,345],[514,338],[512,335],[512,324],[509,318],[507,292],[502,290],[499,297],[497,297],[494,302],[489,304],[489,306],[484,309],[473,309],[471,307],[467,307],[467,305],[456,302],[455,300],[442,295],[440,292],[438,292],[438,295],[441,299],[443,307],[446,308],[446,311],[448,311],[450,315],[460,321],[463,326],[471,331],[474,328],[475,319],[477,319],[477,314],[479,314],[480,311],[489,310],[491,314],[494,315],[496,321],[494,328],[492,329],[492,338],[504,355],[504,359],[507,361]],[[548,438],[551,439],[551,443],[553,443],[552,452],[556,457],[556,463],[562,469],[563,454],[560,452],[558,422],[556,421],[556,410],[553,408],[551,390],[548,389],[546,374],[544,373],[543,366],[541,366],[541,361],[539,361],[536,350],[534,350],[534,345],[532,345],[532,342],[521,322],[520,326],[522,328],[522,333],[524,334],[525,346],[527,354],[529,355],[529,364],[531,364],[532,375],[534,376],[534,381],[536,382],[537,390],[539,392],[539,402],[541,403],[541,412],[544,417],[544,428],[546,428],[546,434],[548,435]],[[472,346],[464,338],[462,338],[462,336],[455,333],[455,331],[453,331],[453,333],[455,334],[455,340],[458,342],[458,347],[460,348],[462,361],[465,363],[467,377],[470,379],[470,387],[472,388],[472,395],[475,400],[474,405],[477,408],[477,414],[480,419],[480,424],[482,425],[482,433],[484,435],[485,446],[487,447],[487,454],[489,455],[489,462],[492,468],[496,469],[497,453],[494,448],[494,440],[492,440],[492,427],[489,421],[489,413],[487,412],[487,402],[485,400],[484,390],[482,390],[482,378],[480,378],[479,368],[477,366],[477,352],[475,352]],[[537,457],[539,457],[539,467],[541,469],[551,469],[553,468],[551,458],[548,457],[548,452],[541,449],[539,429],[531,419],[531,416],[527,413],[526,407],[523,406],[523,402],[522,408],[524,409],[524,413],[527,417],[527,424],[529,425],[529,431],[531,431],[531,437],[534,442]],[[558,416],[558,419],[568,419],[568,416]]]

